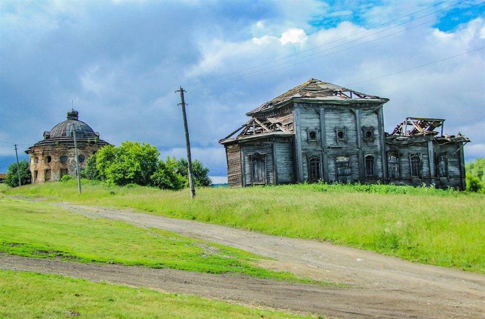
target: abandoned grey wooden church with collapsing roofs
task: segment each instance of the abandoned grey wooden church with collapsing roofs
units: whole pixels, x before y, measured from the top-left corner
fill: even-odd
[[[439,118],[406,118],[385,133],[387,101],[310,79],[262,104],[219,141],[229,186],[323,180],[465,189],[470,140],[443,135]]]

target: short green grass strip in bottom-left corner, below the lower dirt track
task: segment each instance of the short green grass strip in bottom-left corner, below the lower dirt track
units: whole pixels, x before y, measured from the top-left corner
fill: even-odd
[[[196,296],[0,270],[1,318],[307,318]]]

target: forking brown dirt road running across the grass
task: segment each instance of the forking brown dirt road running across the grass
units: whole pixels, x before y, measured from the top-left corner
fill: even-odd
[[[485,318],[485,276],[403,261],[329,243],[164,218],[130,210],[59,206],[91,217],[123,220],[240,248],[276,261],[265,267],[292,271],[352,288],[293,285],[247,277],[170,269],[87,265],[1,256],[0,267],[91,280],[142,285],[253,305],[308,311],[339,318]]]

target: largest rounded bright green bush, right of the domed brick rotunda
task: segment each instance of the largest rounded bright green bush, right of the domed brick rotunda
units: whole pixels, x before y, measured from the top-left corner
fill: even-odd
[[[160,153],[155,146],[126,141],[121,146],[108,145],[97,151],[96,167],[108,184],[151,185]]]

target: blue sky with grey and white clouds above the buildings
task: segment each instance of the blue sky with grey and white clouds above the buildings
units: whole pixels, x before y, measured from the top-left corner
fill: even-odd
[[[406,117],[446,118],[445,133],[472,141],[466,161],[485,157],[480,3],[2,0],[0,172],[15,161],[14,143],[28,159],[71,104],[111,144],[183,157],[174,92],[183,86],[192,156],[223,183],[218,141],[247,111],[310,78],[390,99],[387,132]]]

